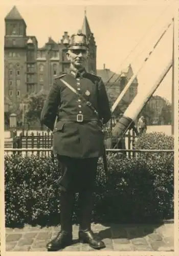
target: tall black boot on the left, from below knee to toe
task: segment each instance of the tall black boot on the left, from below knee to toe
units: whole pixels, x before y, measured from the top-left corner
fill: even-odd
[[[72,244],[72,210],[75,194],[72,191],[61,191],[60,223],[61,231],[57,237],[47,244],[49,251],[57,251]]]

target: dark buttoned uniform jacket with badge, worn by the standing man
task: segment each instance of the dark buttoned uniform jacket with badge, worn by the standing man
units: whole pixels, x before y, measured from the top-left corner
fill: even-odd
[[[41,123],[53,131],[53,150],[58,155],[91,158],[103,154],[104,135],[97,116],[86,102],[79,98],[60,80],[68,82],[90,101],[106,123],[110,117],[109,101],[102,79],[96,75],[73,71],[54,79],[41,111]],[[84,122],[69,120],[82,114]],[[58,115],[54,127],[55,118]]]

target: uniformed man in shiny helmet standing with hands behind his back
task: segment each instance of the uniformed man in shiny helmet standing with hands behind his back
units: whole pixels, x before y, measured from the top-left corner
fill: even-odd
[[[61,166],[60,224],[57,237],[47,244],[56,251],[72,244],[72,212],[79,193],[79,241],[95,249],[105,245],[91,230],[93,192],[98,158],[104,152],[102,123],[110,118],[109,101],[102,79],[85,70],[87,39],[79,31],[66,53],[70,73],[54,79],[41,112],[41,123],[53,131],[53,150]],[[57,116],[57,122],[55,119]]]

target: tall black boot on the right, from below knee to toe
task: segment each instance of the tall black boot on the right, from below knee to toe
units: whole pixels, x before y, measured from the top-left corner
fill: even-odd
[[[91,230],[91,214],[93,209],[93,192],[83,191],[79,194],[80,203],[80,226],[79,241],[87,243],[95,249],[105,248],[104,242],[98,236],[94,236]]]

